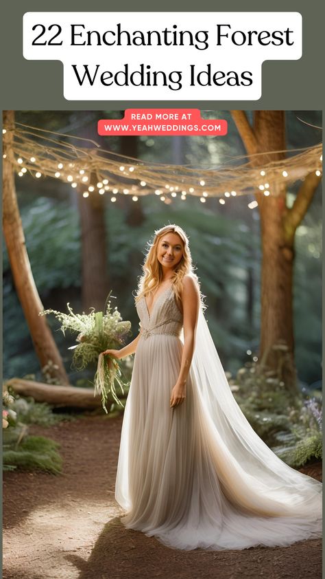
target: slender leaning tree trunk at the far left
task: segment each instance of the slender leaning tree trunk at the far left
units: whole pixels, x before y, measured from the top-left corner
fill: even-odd
[[[52,364],[49,367],[51,376],[58,378],[62,384],[69,384],[60,352],[53,340],[47,321],[45,317],[38,315],[44,308],[34,282],[25,246],[12,168],[14,153],[12,151],[13,135],[10,129],[14,129],[14,111],[4,112],[3,124],[8,127],[7,132],[3,135],[5,154],[7,155],[3,160],[3,234],[8,248],[14,285],[40,366],[45,367],[51,361]]]

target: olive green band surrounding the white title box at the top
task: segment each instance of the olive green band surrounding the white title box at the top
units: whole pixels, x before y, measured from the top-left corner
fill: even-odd
[[[49,7],[51,5],[51,8]],[[3,2],[1,9],[1,101],[2,109],[125,109],[166,105],[166,101],[72,101],[63,96],[63,65],[58,61],[27,61],[23,58],[23,14],[25,12],[300,12],[302,14],[303,56],[299,61],[267,61],[263,64],[262,98],[254,101],[173,101],[169,107],[193,106],[200,109],[322,109],[324,102],[324,3],[302,0],[213,2],[188,0],[163,3],[95,0],[56,3],[44,0]],[[267,22],[265,23],[267,27]],[[217,94],[217,93],[216,93]],[[217,103],[217,104],[216,104]]]

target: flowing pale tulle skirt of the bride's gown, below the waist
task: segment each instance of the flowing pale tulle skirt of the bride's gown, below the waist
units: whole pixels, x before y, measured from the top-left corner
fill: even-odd
[[[181,340],[170,335],[141,338],[136,350],[115,491],[125,527],[178,549],[289,545],[320,536],[320,483],[297,473],[310,479],[304,512],[294,508],[300,479],[286,503],[274,477],[270,496],[249,468],[230,459],[192,372],[186,400],[170,408],[181,356]]]

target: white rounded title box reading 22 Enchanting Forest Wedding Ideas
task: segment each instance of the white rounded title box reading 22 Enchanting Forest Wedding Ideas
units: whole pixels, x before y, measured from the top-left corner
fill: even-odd
[[[264,61],[302,56],[302,17],[27,12],[23,56],[62,61],[67,100],[257,100]]]

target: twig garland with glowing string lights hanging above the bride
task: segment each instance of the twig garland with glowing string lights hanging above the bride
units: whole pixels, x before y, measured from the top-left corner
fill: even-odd
[[[179,191],[182,201],[189,194],[197,196],[202,203],[206,197],[219,197],[224,204],[224,197],[252,195],[254,189],[263,192],[265,197],[276,195],[279,189],[276,185],[282,184],[283,179],[291,184],[313,171],[317,177],[322,175],[321,145],[291,151],[290,157],[268,162],[263,169],[252,166],[248,157],[234,157],[225,166],[205,168],[146,163],[101,150],[95,142],[90,142],[91,147],[82,147],[82,139],[73,135],[65,135],[69,136],[69,142],[66,142],[59,133],[40,131],[19,123],[13,130],[3,129],[4,133],[8,130],[13,133],[14,155],[10,155],[10,162],[20,177],[26,174],[36,178],[54,177],[82,191],[84,184],[90,181],[90,175],[95,175],[97,186],[89,186],[84,192],[88,195],[94,191],[100,195],[109,191],[117,195],[123,190],[124,195],[132,192],[133,200],[134,197],[155,194],[161,201],[169,199],[171,202],[171,197],[178,197]],[[265,152],[263,155],[272,158],[274,153]],[[3,158],[9,158],[5,155],[6,152]],[[267,182],[261,183],[261,177],[265,175]]]

